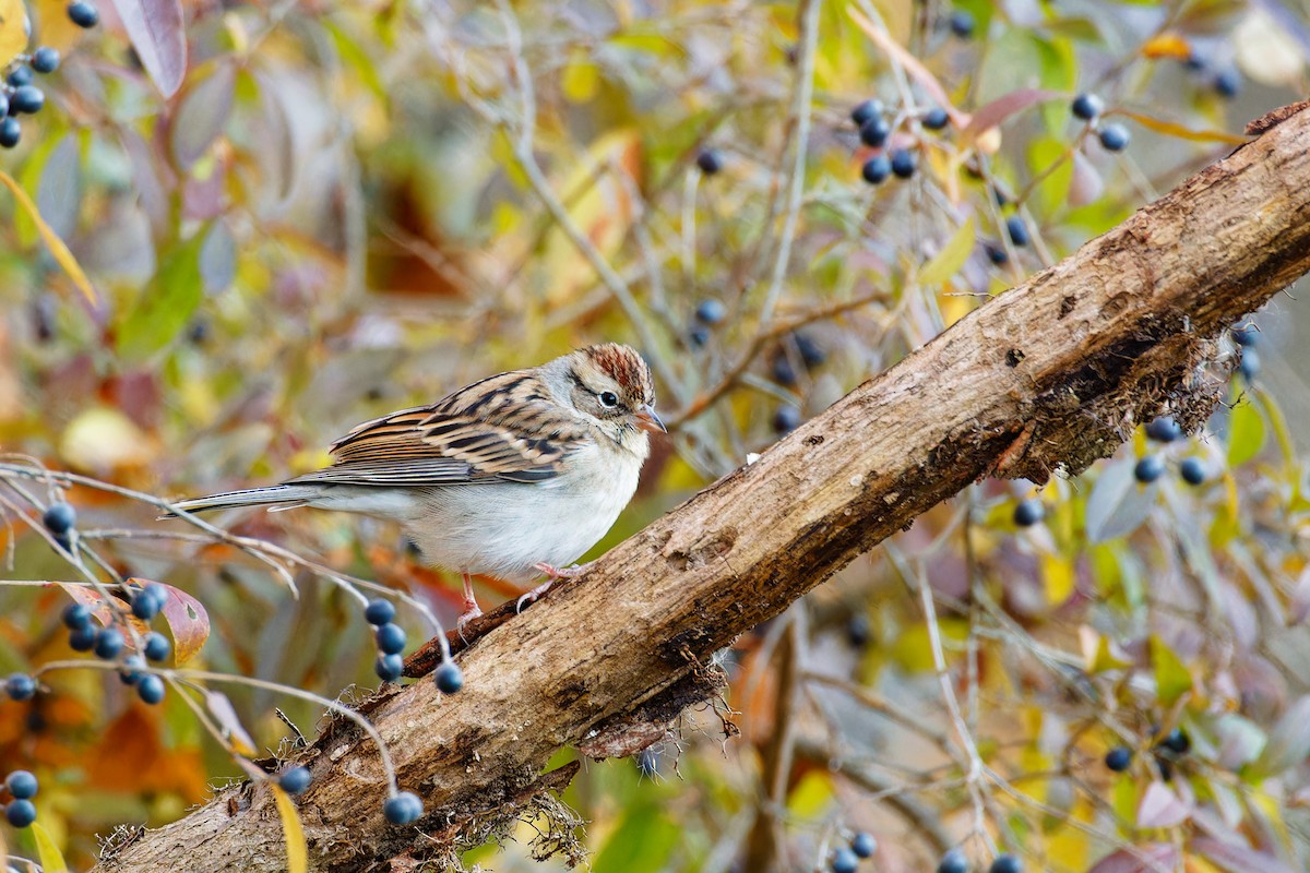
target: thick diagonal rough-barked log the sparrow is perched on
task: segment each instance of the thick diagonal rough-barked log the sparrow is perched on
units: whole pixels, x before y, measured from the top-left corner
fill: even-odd
[[[460,654],[458,695],[419,681],[372,700],[401,787],[427,805],[418,826],[383,822],[376,749],[329,725],[304,755],[312,866],[413,869],[512,822],[561,781],[542,776],[558,749],[639,746],[625,736],[713,691],[715,649],[975,479],[1077,472],[1166,404],[1195,425],[1222,390],[1207,369],[1217,332],[1307,268],[1300,113],[493,628]],[[248,784],[101,869],[257,873],[283,869],[283,852],[267,789]]]

